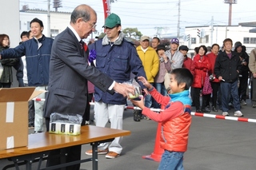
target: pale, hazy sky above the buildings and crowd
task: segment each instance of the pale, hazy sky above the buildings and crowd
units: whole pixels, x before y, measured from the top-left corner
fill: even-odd
[[[20,9],[29,5],[30,9],[47,10],[47,0],[20,0]],[[104,13],[102,0],[62,0],[58,11],[72,12],[80,4],[91,6],[98,14],[97,30],[102,32]],[[255,0],[237,0],[232,5],[232,22],[256,22]],[[53,0],[50,0],[50,10]],[[210,26],[228,24],[230,5],[223,0],[180,0],[180,35],[184,35],[186,26]],[[138,28],[143,35],[177,34],[178,0],[114,0],[111,12],[121,18],[122,29]]]

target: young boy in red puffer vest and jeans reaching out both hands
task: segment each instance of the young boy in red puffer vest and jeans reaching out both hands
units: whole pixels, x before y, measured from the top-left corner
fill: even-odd
[[[165,151],[158,170],[183,168],[183,154],[186,152],[189,129],[191,124],[191,100],[189,97],[190,85],[193,75],[189,69],[173,69],[170,73],[170,94],[162,96],[144,77],[138,77],[146,86],[150,95],[154,97],[165,109],[155,113],[144,105],[143,97],[140,101],[130,100],[134,105],[142,109],[142,114],[150,119],[162,123],[162,135],[160,146]]]

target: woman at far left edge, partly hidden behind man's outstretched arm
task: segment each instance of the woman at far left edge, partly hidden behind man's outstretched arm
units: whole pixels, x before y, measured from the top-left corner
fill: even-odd
[[[9,49],[10,47],[10,38],[6,34],[0,34],[0,53],[2,50]],[[10,88],[11,83],[13,82],[13,71],[12,66],[16,65],[18,58],[8,58],[0,60],[2,64],[3,71],[2,76],[0,77],[0,88]]]

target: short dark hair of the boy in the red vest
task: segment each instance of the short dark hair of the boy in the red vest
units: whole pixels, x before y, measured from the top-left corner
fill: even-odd
[[[178,69],[173,69],[171,71],[171,74],[174,74],[175,80],[177,81],[178,85],[181,83],[185,83],[185,90],[190,89],[190,86],[193,83],[193,75],[190,72],[189,69],[186,68],[178,68]]]

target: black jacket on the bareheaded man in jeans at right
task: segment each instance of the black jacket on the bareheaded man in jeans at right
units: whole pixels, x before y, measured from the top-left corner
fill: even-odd
[[[214,73],[216,77],[222,76],[225,82],[234,82],[238,80],[238,74],[241,73],[241,61],[238,53],[232,51],[231,58],[226,55],[226,52],[218,53],[214,65]],[[237,71],[238,70],[238,71]],[[239,73],[238,73],[239,72]]]

